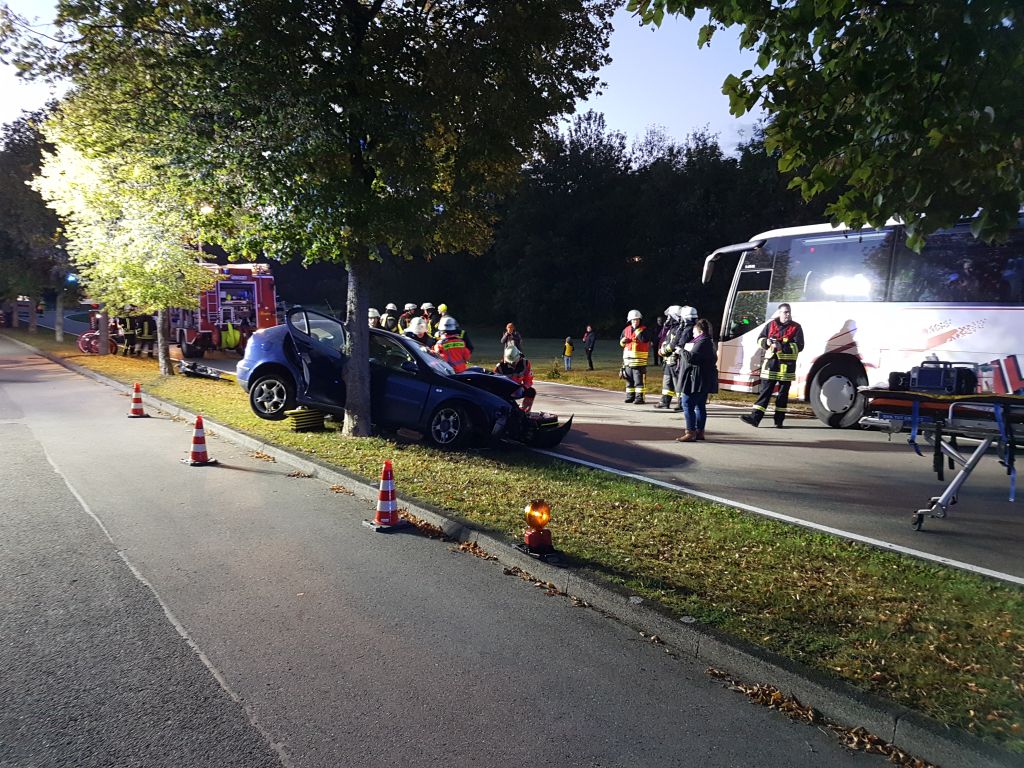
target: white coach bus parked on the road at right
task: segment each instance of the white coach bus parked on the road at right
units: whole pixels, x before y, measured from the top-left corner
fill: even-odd
[[[719,248],[705,261],[706,284],[717,262],[738,255],[720,329],[721,387],[757,391],[758,334],[788,302],[805,338],[794,396],[830,426],[857,423],[858,386],[885,385],[890,372],[926,358],[981,365],[982,391],[1024,389],[1022,226],[986,245],[958,224],[929,237],[920,254],[896,222],[772,229]]]

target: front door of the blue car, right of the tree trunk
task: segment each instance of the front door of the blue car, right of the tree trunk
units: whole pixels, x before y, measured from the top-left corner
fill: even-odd
[[[430,382],[397,337],[370,333],[370,399],[377,424],[418,429]]]

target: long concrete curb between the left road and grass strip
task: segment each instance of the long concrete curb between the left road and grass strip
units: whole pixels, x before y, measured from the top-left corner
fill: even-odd
[[[70,371],[115,389],[127,387],[9,336],[5,338]],[[146,394],[142,395],[142,401],[171,417],[186,420],[196,418],[196,414],[185,409]],[[377,502],[379,488],[367,478],[264,442],[206,417],[204,421],[208,433],[213,432],[242,447],[266,454],[281,464],[295,467],[326,482],[344,485],[371,508]],[[556,567],[531,558],[515,549],[506,539],[481,530],[430,504],[403,496],[398,497],[398,502],[399,506],[412,514],[441,528],[449,538],[459,542],[473,542],[502,564],[518,567],[536,580],[553,585],[566,596],[582,600],[647,636],[656,635],[681,656],[695,658],[709,667],[724,670],[739,680],[751,683],[769,682],[841,726],[863,727],[904,752],[945,768],[1024,768],[1024,755],[1001,750],[977,736],[942,725],[921,713],[886,701],[842,680],[724,635],[713,628],[682,623],[670,616],[660,606],[604,584],[596,573]]]

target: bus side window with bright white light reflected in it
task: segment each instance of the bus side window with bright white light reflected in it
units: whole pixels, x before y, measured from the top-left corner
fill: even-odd
[[[882,301],[892,251],[891,229],[796,237],[775,258],[771,300]]]

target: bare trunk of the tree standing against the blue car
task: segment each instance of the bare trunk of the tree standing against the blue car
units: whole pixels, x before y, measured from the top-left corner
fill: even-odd
[[[370,282],[366,280],[370,258],[356,256],[348,265],[348,362],[345,366],[345,426],[346,437],[370,434]]]

